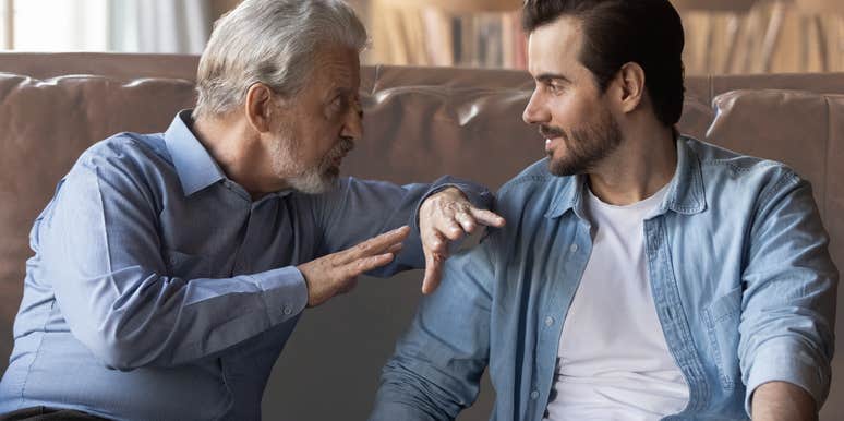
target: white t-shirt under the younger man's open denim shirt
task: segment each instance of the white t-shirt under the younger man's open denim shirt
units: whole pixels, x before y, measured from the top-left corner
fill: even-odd
[[[545,420],[658,420],[686,407],[644,258],[643,221],[666,190],[628,206],[589,192],[592,254],[563,326]]]

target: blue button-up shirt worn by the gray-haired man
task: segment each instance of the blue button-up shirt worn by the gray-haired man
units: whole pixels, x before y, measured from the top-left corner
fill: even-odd
[[[124,420],[255,420],[308,302],[296,265],[415,222],[456,185],[343,179],[322,195],[252,201],[189,129],[122,133],[86,151],[31,233],[0,413],[72,408]],[[373,275],[422,267],[418,231]]]

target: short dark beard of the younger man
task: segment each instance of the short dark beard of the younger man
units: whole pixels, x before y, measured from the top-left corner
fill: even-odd
[[[560,128],[548,125],[541,125],[540,133],[546,139],[562,137],[566,144],[565,156],[554,159],[548,153],[548,171],[558,177],[594,170],[622,143],[622,130],[608,110],[603,110],[596,122],[572,129],[570,135]]]

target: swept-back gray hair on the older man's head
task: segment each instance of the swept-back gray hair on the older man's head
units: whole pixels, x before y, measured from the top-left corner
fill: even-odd
[[[367,43],[363,23],[341,0],[244,0],[214,24],[200,59],[193,117],[228,113],[257,82],[296,96],[319,46],[360,52]]]

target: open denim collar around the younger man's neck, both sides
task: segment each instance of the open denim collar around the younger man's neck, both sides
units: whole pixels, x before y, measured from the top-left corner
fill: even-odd
[[[707,199],[703,193],[703,176],[697,155],[686,143],[688,137],[677,137],[677,169],[671,180],[668,192],[660,204],[658,215],[674,211],[683,215],[692,215],[707,208]],[[556,194],[552,201],[545,217],[553,219],[563,216],[569,209],[581,219],[587,219],[583,212],[583,197],[587,178],[578,175],[575,177],[558,177]],[[562,185],[559,185],[562,184]]]

